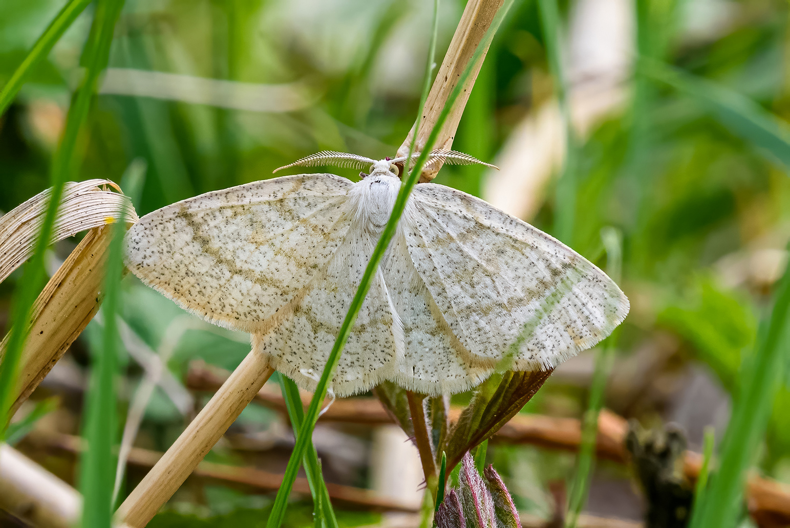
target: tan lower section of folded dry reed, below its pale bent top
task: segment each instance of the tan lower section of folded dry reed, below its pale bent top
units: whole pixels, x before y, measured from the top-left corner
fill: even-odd
[[[33,305],[30,334],[21,357],[11,413],[28,399],[71,343],[96,315],[102,300],[112,228],[93,228],[52,276]],[[8,336],[0,343],[6,351]]]

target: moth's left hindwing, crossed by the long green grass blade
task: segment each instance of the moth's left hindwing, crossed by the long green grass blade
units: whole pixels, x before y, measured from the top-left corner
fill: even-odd
[[[378,236],[352,225],[328,266],[280,310],[280,321],[254,341],[274,368],[313,390],[359,287]],[[369,390],[403,356],[403,330],[378,270],[340,356],[332,388],[338,396]]]

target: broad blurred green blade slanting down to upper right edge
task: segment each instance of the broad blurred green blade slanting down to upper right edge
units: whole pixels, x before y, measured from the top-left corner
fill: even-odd
[[[776,115],[738,92],[662,62],[642,58],[638,67],[645,77],[697,100],[733,134],[790,168],[790,126]]]

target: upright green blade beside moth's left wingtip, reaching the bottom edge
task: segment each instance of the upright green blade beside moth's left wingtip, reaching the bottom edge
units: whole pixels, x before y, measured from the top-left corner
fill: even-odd
[[[122,211],[119,218],[124,217]],[[85,497],[82,513],[84,528],[108,528],[112,517],[112,494],[115,481],[115,460],[112,447],[118,417],[115,409],[115,377],[118,374],[119,334],[115,314],[123,272],[123,236],[125,222],[113,225],[107,276],[104,279],[102,315],[104,331],[102,349],[93,357],[88,399],[85,402],[85,440],[88,449],[80,464],[80,488]]]

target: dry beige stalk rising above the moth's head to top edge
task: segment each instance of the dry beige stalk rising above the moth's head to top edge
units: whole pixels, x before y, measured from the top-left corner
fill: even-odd
[[[475,53],[477,45],[483,40],[491,22],[498,10],[504,4],[504,0],[469,0],[466,3],[464,14],[461,16],[461,21],[458,22],[458,27],[453,35],[453,40],[450,42],[450,47],[447,49],[442,66],[439,68],[434,84],[431,86],[431,92],[425,101],[423,107],[423,119],[419,123],[419,130],[417,130],[417,140],[415,150],[419,152],[425,146],[425,141],[431,134],[434,125],[438,119],[439,114],[445,106],[450,93],[453,92],[458,78],[465,70],[466,65]],[[483,60],[488,52],[486,49],[480,57],[480,61],[474,66],[472,73],[469,75],[464,91],[458,96],[450,115],[447,116],[442,131],[436,139],[434,149],[450,149],[453,146],[453,139],[455,132],[458,129],[458,123],[461,122],[461,115],[464,113],[466,101],[469,99],[469,94],[472,92],[472,86],[475,84],[477,74],[480,74],[480,66],[483,66]],[[403,145],[397,150],[398,156],[408,156],[408,147],[414,135],[414,127],[409,131],[408,136],[403,142]],[[441,164],[432,164],[430,169],[423,168],[423,172],[419,177],[420,183],[429,182],[436,177],[439,169],[442,168]]]

